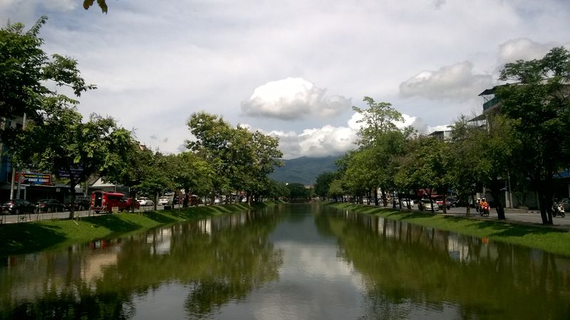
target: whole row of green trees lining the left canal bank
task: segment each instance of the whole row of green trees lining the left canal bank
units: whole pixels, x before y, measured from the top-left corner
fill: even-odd
[[[217,115],[192,114],[187,126],[196,139],[187,141],[190,151],[168,155],[140,146],[115,119],[92,114],[84,121],[77,100],[48,86],[71,87],[80,97],[95,85],[86,85],[76,60],[43,52],[38,33],[46,21],[40,18],[28,31],[21,23],[0,29],[0,143],[16,167],[63,179],[72,203],[76,186],[94,175],[130,187],[133,197],[184,189],[186,195],[213,200],[215,194],[246,191],[248,201],[255,201],[283,191],[267,178],[280,164],[278,139],[230,127]],[[6,119],[22,115],[24,129],[5,125]]]

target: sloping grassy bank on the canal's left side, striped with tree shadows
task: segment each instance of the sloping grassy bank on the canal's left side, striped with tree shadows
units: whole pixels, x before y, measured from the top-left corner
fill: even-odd
[[[253,207],[242,204],[201,206],[142,213],[93,215],[80,220],[41,220],[0,225],[0,256],[36,252],[95,239],[119,238],[159,225],[197,220],[273,204],[269,202]]]

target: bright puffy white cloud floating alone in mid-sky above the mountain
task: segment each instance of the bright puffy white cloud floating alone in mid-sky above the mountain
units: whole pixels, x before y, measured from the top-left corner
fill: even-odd
[[[325,94],[325,89],[303,78],[271,81],[257,87],[249,100],[242,102],[242,111],[252,117],[294,120],[332,117],[351,107],[345,97]]]

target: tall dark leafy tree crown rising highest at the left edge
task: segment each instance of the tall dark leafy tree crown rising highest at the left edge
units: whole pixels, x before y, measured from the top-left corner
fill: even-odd
[[[59,100],[61,104],[76,105],[77,101],[58,95],[47,85],[71,87],[79,97],[82,92],[94,89],[86,85],[77,68],[76,60],[52,55],[51,58],[41,49],[43,40],[38,38],[41,26],[48,18],[42,16],[28,30],[22,23],[8,23],[0,29],[0,119],[14,119],[26,114],[28,119],[41,122],[46,106],[51,102],[44,98]],[[4,126],[0,126],[4,127]],[[0,142],[14,143],[19,129],[0,130]],[[10,142],[11,141],[11,142]]]

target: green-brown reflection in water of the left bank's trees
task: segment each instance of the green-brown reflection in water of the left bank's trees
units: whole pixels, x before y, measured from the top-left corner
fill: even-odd
[[[281,252],[266,240],[276,219],[224,215],[11,257],[0,268],[0,319],[127,319],[135,315],[134,297],[170,283],[187,287],[188,316],[211,315],[277,279]]]

